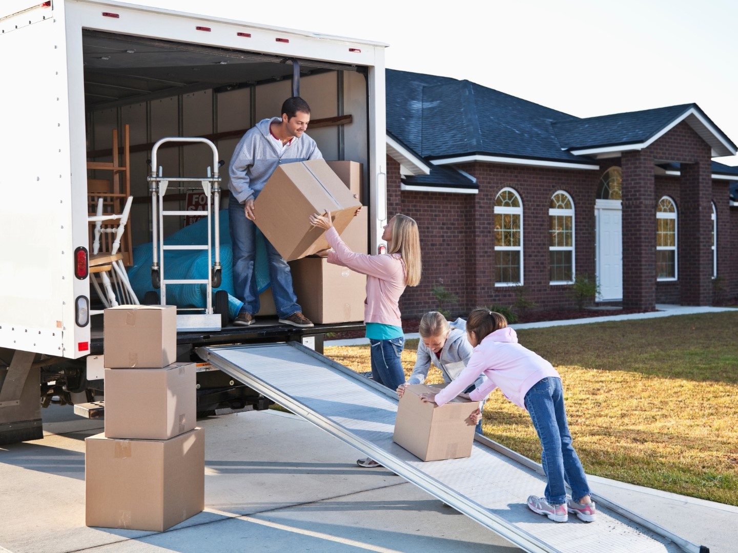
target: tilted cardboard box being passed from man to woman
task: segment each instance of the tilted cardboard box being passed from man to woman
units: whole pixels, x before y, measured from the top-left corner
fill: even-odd
[[[338,234],[361,204],[323,159],[279,165],[254,202],[256,225],[287,261],[328,248],[310,215],[331,212]]]

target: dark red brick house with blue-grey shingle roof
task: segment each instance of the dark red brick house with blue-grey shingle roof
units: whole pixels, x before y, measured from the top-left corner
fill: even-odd
[[[738,296],[736,145],[696,104],[579,119],[447,77],[387,71],[387,209],[418,221],[403,316],[514,304],[652,310]],[[732,193],[732,195],[731,195]],[[520,286],[523,288],[520,288]]]

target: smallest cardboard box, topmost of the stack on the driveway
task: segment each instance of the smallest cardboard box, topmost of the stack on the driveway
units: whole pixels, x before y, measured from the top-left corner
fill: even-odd
[[[106,368],[161,369],[176,361],[176,305],[110,307],[103,324]]]

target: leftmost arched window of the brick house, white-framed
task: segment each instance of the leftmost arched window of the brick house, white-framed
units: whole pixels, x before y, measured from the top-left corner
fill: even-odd
[[[494,201],[494,284],[523,284],[523,203],[511,188]]]

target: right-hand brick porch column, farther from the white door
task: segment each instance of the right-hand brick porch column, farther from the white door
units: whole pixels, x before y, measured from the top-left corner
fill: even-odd
[[[682,305],[712,304],[710,159],[681,164],[677,277]]]

